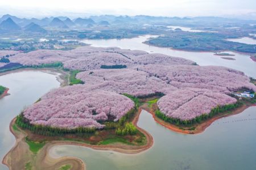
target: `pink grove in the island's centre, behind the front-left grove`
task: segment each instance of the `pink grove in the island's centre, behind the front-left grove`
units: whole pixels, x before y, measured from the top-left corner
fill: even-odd
[[[133,96],[147,96],[156,92],[167,93],[177,89],[160,78],[149,76],[148,73],[136,69],[98,69],[80,72],[76,77],[84,81],[86,85],[94,85],[98,89]]]

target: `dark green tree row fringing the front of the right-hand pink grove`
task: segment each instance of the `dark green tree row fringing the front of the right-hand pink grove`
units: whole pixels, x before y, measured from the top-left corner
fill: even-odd
[[[217,106],[215,108],[213,108],[209,114],[202,114],[198,117],[195,117],[193,119],[189,119],[189,120],[181,120],[181,119],[177,119],[177,118],[171,118],[171,117],[167,117],[165,114],[163,114],[160,110],[156,110],[155,111],[155,115],[156,117],[163,119],[166,122],[175,124],[175,125],[194,125],[195,123],[200,123],[201,121],[204,121],[208,118],[212,118],[214,115],[219,114],[219,113],[223,113],[225,111],[229,111],[229,110],[233,110],[236,109],[237,107],[241,106],[242,102],[238,101],[234,104],[229,104],[229,105],[224,105],[224,106]]]

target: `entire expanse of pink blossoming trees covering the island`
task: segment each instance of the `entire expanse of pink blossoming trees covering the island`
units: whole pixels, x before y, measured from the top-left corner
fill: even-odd
[[[81,72],[83,85],[52,90],[24,110],[31,123],[53,127],[103,128],[104,121],[118,121],[133,109],[123,93],[147,97],[164,94],[157,105],[167,117],[190,120],[213,107],[236,103],[232,91],[256,91],[244,73],[225,67],[196,65],[193,61],[128,49],[82,47],[71,51],[39,50],[9,57],[12,63],[40,65],[63,63]],[[101,69],[101,65],[126,65]]]

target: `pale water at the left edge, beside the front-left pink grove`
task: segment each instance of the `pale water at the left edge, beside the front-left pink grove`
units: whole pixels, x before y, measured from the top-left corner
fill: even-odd
[[[60,86],[56,76],[39,71],[24,71],[0,76],[0,85],[9,88],[11,95],[0,99],[0,159],[14,146],[15,138],[9,130],[11,119],[25,106],[53,88]],[[0,164],[0,169],[8,169]]]

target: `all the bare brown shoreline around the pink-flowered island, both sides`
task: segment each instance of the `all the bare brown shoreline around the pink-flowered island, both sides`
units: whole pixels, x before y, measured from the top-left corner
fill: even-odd
[[[26,69],[17,69],[15,71],[0,73],[0,76],[2,74],[8,74],[8,73],[20,72],[20,71],[43,71],[43,72],[52,73],[55,75],[56,75],[56,73],[61,74],[61,72],[62,72],[57,69],[49,69],[49,68],[44,68],[44,69],[33,69],[33,68],[27,69],[26,68]],[[56,76],[57,80],[61,82],[61,86],[68,84],[67,83],[68,80],[65,80],[64,76],[65,76],[65,72],[62,72],[61,76]],[[217,119],[220,119],[223,117],[229,117],[229,116],[235,115],[235,114],[239,114],[243,110],[247,109],[250,106],[256,106],[256,105],[255,104],[243,105],[241,107],[238,107],[236,110],[232,111],[232,113],[224,113],[224,114],[216,115],[216,117],[210,118],[207,121],[204,121],[203,123],[200,123],[199,125],[196,125],[196,129],[191,131],[191,130],[183,130],[175,125],[171,125],[170,123],[164,122],[161,119],[155,117],[154,110],[152,108],[148,107],[147,103],[144,103],[144,105],[139,107],[139,110],[137,111],[137,114],[135,115],[132,123],[138,128],[139,131],[141,131],[146,136],[146,139],[147,139],[146,145],[144,145],[144,146],[129,146],[129,145],[122,144],[122,143],[114,143],[114,144],[108,144],[108,145],[94,146],[91,144],[86,144],[86,143],[76,142],[76,141],[54,140],[54,141],[47,142],[46,145],[39,151],[38,155],[36,156],[37,157],[36,165],[37,165],[37,167],[40,167],[40,169],[41,168],[42,169],[56,169],[58,167],[61,167],[61,165],[65,165],[65,164],[71,164],[72,169],[85,169],[86,168],[85,163],[81,159],[78,159],[77,157],[64,156],[64,157],[60,157],[57,159],[51,157],[51,155],[49,154],[49,150],[51,150],[51,148],[54,146],[60,146],[60,145],[83,146],[83,147],[92,148],[93,150],[115,151],[115,152],[121,152],[123,154],[138,154],[140,152],[148,150],[149,148],[151,148],[153,146],[154,139],[147,131],[145,131],[142,128],[137,126],[139,115],[141,114],[142,110],[146,110],[149,113],[151,113],[152,117],[155,119],[156,122],[158,122],[160,125],[162,125],[166,128],[169,128],[172,131],[179,132],[182,134],[199,134],[200,132],[203,132],[207,127],[209,127]],[[20,160],[18,160],[18,159],[14,160],[11,158],[13,158],[14,155],[15,155],[15,157],[19,157],[19,156],[22,157],[24,154],[31,155],[31,152],[30,152],[28,145],[25,141],[25,138],[27,136],[26,133],[23,133],[24,131],[22,131],[20,128],[19,128],[20,132],[15,131],[13,129],[14,122],[15,122],[15,118],[13,119],[13,121],[11,121],[9,128],[10,128],[10,131],[12,132],[12,134],[15,136],[16,142],[15,142],[14,147],[11,148],[11,150],[5,155],[5,157],[2,160],[2,163],[7,165],[7,167],[9,167],[10,169],[21,169],[21,167],[16,167],[16,165],[21,163]],[[30,156],[30,157],[32,157],[32,156]],[[28,157],[26,157],[26,159],[28,159],[30,157],[28,156]],[[16,164],[12,163],[11,161],[16,161]]]

